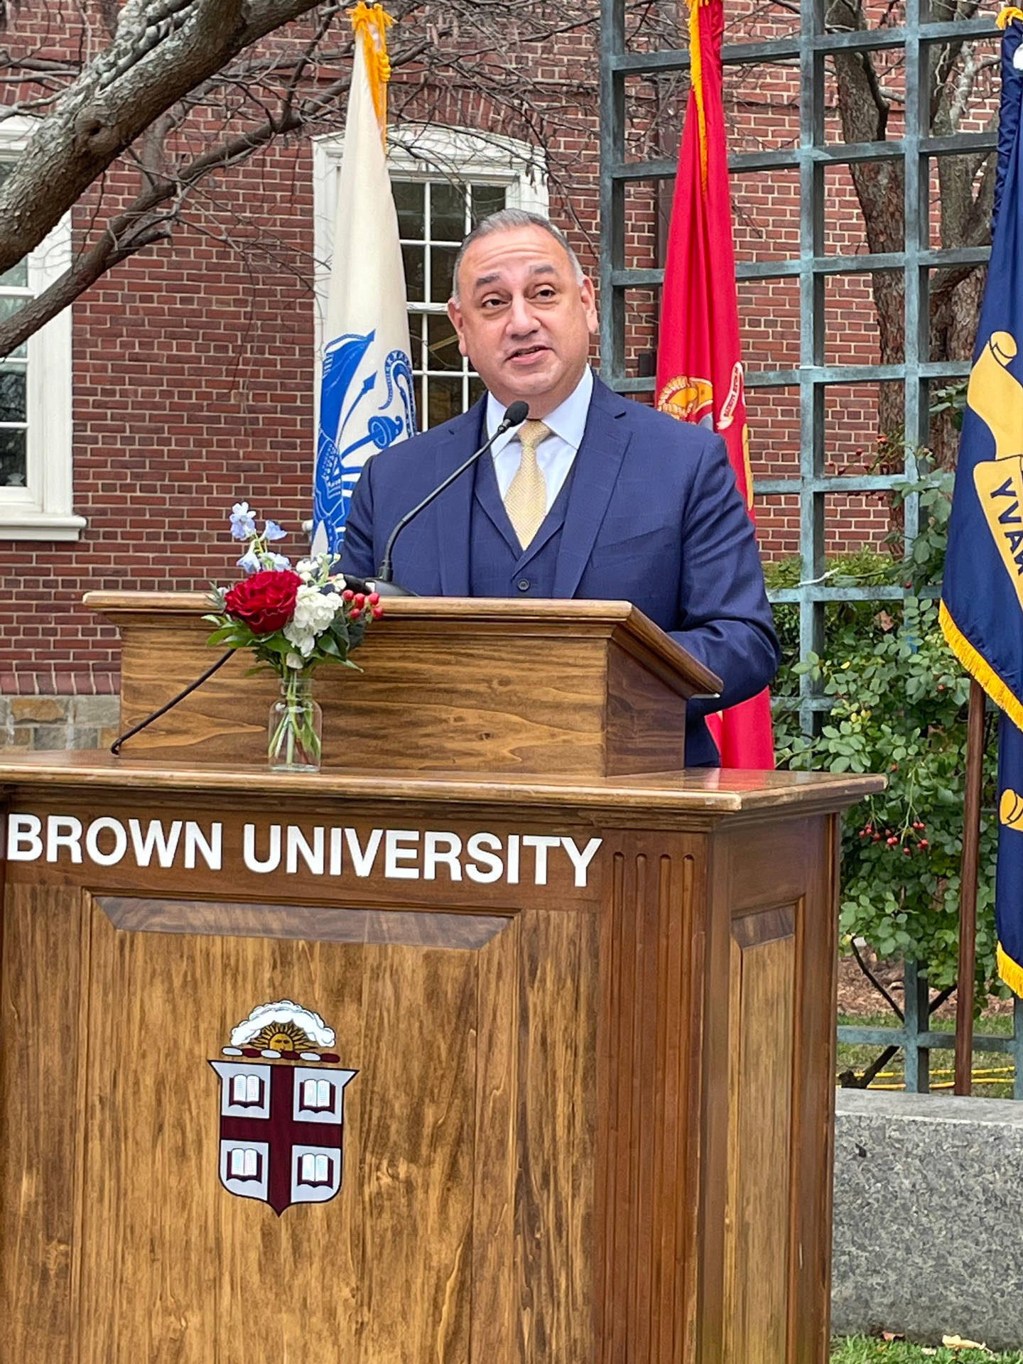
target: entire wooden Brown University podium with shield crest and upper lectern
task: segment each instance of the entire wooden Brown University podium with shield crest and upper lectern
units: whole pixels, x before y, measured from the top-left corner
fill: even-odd
[[[213,655],[105,593],[134,723]],[[4,1364],[824,1364],[837,812],[681,771],[622,603],[390,607],[263,768],[232,660],[0,756]],[[660,769],[659,769],[660,768]]]

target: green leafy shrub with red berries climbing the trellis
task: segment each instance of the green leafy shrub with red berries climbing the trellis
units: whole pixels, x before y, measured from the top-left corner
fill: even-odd
[[[922,486],[923,532],[910,561],[861,552],[829,565],[831,581],[891,582],[902,576],[919,595],[904,602],[829,603],[824,657],[794,657],[791,618],[798,608],[775,607],[788,651],[775,693],[795,702],[798,677],[809,674],[833,701],[816,738],[799,732],[792,709],[776,716],[779,765],[888,777],[887,791],[854,806],[844,821],[842,933],[865,938],[880,956],[921,962],[937,988],[951,985],[958,968],[970,694],[970,679],[941,634],[933,587],[944,562],[948,498],[944,476]],[[772,587],[790,585],[790,577],[791,565],[769,570]],[[928,587],[930,595],[923,595]],[[981,822],[978,1003],[998,989],[994,801],[992,737]]]

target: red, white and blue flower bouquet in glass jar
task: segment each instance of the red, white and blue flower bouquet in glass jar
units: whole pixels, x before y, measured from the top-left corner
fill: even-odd
[[[366,636],[370,621],[383,614],[379,596],[353,592],[334,558],[321,554],[295,567],[271,548],[286,535],[276,521],[256,529],[247,502],[231,512],[231,533],[246,542],[237,561],[246,577],[233,588],[214,588],[211,611],[203,619],[217,629],[209,644],[251,649],[256,667],[273,668],[281,697],[270,709],[267,760],[276,772],[315,772],[322,752],[322,713],[312,700],[311,678],[321,663],[356,668],[349,655]]]

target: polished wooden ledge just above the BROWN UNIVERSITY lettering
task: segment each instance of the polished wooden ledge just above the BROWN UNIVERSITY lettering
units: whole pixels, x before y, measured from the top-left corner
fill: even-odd
[[[146,792],[231,794],[247,802],[285,798],[345,799],[364,803],[446,802],[451,806],[572,806],[578,810],[651,810],[663,816],[709,817],[769,814],[805,809],[840,810],[874,791],[883,776],[832,772],[745,772],[687,768],[644,776],[516,776],[461,772],[386,772],[367,775],[345,768],[318,773],[277,773],[244,765],[202,764],[191,757],[139,761],[102,750],[0,753],[0,786],[25,790],[123,790]]]

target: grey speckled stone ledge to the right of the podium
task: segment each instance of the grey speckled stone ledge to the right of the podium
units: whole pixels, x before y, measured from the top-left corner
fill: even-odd
[[[1023,1102],[837,1091],[832,1329],[1023,1345]]]

